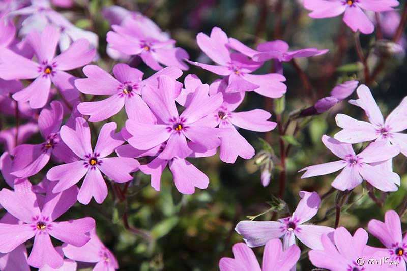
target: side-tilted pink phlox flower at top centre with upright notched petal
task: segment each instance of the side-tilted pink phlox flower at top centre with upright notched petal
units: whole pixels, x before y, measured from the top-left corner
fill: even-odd
[[[229,39],[222,29],[214,27],[210,37],[201,32],[196,36],[196,41],[199,48],[218,65],[188,62],[215,74],[228,76],[226,92],[254,91],[270,98],[279,98],[286,92],[287,86],[282,83],[284,76],[277,73],[252,74],[263,62],[252,61],[242,53],[230,53]]]

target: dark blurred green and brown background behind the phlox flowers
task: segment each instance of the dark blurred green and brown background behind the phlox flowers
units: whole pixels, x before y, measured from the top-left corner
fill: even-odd
[[[290,50],[308,47],[329,49],[329,53],[322,56],[284,63],[288,88],[285,107],[281,112],[283,124],[286,124],[293,112],[329,96],[335,85],[347,80],[364,82],[363,65],[355,48],[355,34],[343,24],[342,17],[311,19],[301,1],[76,0],[70,9],[57,9],[76,26],[99,35],[100,59],[97,64],[108,71],[116,62],[106,55],[106,33],[110,25],[102,17],[101,10],[110,5],[138,11],[151,18],[177,40],[177,46],[188,51],[192,61],[209,62],[197,46],[195,38],[199,32],[209,34],[214,26],[252,48],[260,42],[282,39],[290,45]],[[397,11],[400,14],[403,5]],[[371,48],[368,65],[371,73],[376,75],[370,87],[386,117],[407,93],[407,63],[404,54],[401,52],[394,55],[390,45],[377,44],[374,33],[361,35],[360,40],[364,51]],[[379,71],[375,71],[377,67],[380,67]],[[154,73],[144,64],[137,68],[144,72],[145,78]],[[272,62],[267,62],[256,73],[271,71]],[[189,73],[198,75],[203,83],[211,83],[218,78],[215,74],[190,66],[179,81],[183,82]],[[356,94],[350,98],[356,98]],[[281,100],[276,103],[249,92],[237,111],[263,108],[272,112],[272,120],[276,121],[276,104],[281,109],[281,103]],[[260,168],[255,163],[258,157],[251,160],[238,158],[235,164],[226,164],[220,161],[217,154],[210,158],[191,160],[210,177],[210,185],[206,190],[196,189],[193,195],[180,194],[173,185],[171,173],[166,169],[161,179],[161,191],[157,192],[151,188],[149,176],[136,172],[135,180],[127,190],[126,201],[119,201],[109,190],[109,196],[103,204],[96,204],[94,200],[86,206],[77,203],[64,216],[95,218],[97,232],[117,257],[120,270],[217,270],[219,259],[232,257],[232,246],[242,242],[242,236],[234,230],[239,221],[263,213],[270,207],[280,211],[274,215],[274,219],[286,217],[297,206],[299,191],[316,191],[319,195],[330,191],[335,173],[300,179],[301,174],[297,172],[309,165],[334,161],[335,157],[322,144],[321,136],[333,136],[340,130],[334,120],[339,112],[357,119],[366,118],[360,108],[343,101],[322,115],[299,118],[287,126],[288,136],[283,141],[285,147],[291,146],[285,165],[286,186],[280,200],[276,197],[280,194],[279,178],[284,167],[280,161],[278,129],[270,133],[240,130],[254,146],[256,153],[274,150],[275,157],[268,161],[273,170],[267,187],[263,187],[260,182]],[[2,118],[4,123],[10,122],[5,116]],[[118,129],[123,127],[126,121],[124,110],[114,116],[113,121],[118,122]],[[96,123],[99,129],[102,125],[103,122]],[[31,141],[39,140],[33,138]],[[358,227],[366,227],[370,219],[383,220],[388,209],[402,209],[407,194],[406,158],[402,155],[395,158],[394,171],[401,176],[401,187],[397,192],[382,195],[373,191],[374,196],[369,196],[365,184],[357,187],[342,207],[339,225],[353,233]],[[31,179],[39,182],[41,178],[41,174],[37,174]],[[333,227],[335,198],[336,192],[326,194],[317,216],[310,222]],[[122,220],[125,210],[130,226],[146,232],[145,236],[126,230]],[[256,220],[270,220],[272,216],[272,212],[268,212]],[[407,222],[405,218],[402,221]],[[370,237],[369,244],[380,246],[374,237]],[[307,248],[302,244],[299,246],[303,255],[297,270],[311,270],[313,267],[307,259]],[[254,251],[261,262],[263,247],[255,248]]]

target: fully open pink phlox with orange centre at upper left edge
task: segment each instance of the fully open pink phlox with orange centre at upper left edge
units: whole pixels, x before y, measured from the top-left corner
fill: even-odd
[[[16,101],[29,101],[32,108],[44,107],[50,94],[51,82],[67,100],[71,101],[79,96],[73,86],[75,77],[65,71],[91,62],[95,49],[88,49],[88,41],[79,39],[69,49],[54,57],[59,35],[58,30],[52,26],[45,27],[41,34],[33,30],[27,35],[38,63],[9,49],[1,49],[0,78],[35,79],[26,88],[13,94]]]

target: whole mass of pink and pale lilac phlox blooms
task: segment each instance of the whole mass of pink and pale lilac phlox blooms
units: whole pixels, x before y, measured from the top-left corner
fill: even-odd
[[[67,7],[72,3],[54,4]],[[345,23],[363,33],[373,32],[374,26],[362,9],[381,12],[397,5],[396,0],[304,0],[311,17],[344,12]],[[210,36],[199,33],[196,41],[215,65],[199,63],[189,60],[188,53],[175,47],[176,41],[147,17],[115,6],[105,8],[103,15],[112,24],[106,37],[109,56],[128,63],[139,57],[155,74],[143,78],[142,71],[119,63],[111,75],[90,65],[98,59],[97,35],[75,27],[48,1],[10,2],[0,10],[0,112],[18,114],[22,121],[0,132],[5,149],[0,170],[10,186],[0,191],[0,205],[7,211],[0,220],[1,270],[29,270],[29,266],[76,270],[77,262],[93,263],[94,270],[118,269],[113,254],[98,238],[93,218],[59,221],[59,217],[77,201],[89,204],[94,198],[102,203],[108,195],[106,182],[130,182],[137,170],[151,176],[151,186],[157,191],[167,165],[179,192],[206,189],[209,177],[188,159],[214,156],[218,148],[225,163],[235,163],[238,157],[250,159],[255,150],[239,128],[268,132],[277,126],[263,109],[238,109],[245,93],[280,98],[287,91],[283,62],[328,52],[317,48],[289,51],[281,40],[252,49],[214,27]],[[16,17],[21,20],[20,37],[16,37]],[[275,73],[254,73],[271,59]],[[194,74],[177,81],[188,70],[187,63],[221,77],[210,84]],[[83,71],[86,78],[68,72],[74,69]],[[352,80],[336,86],[331,96],[299,115],[327,111],[350,96],[358,84]],[[401,133],[407,129],[407,98],[384,120],[368,87],[360,85],[357,94],[359,99],[350,103],[363,109],[369,122],[337,114],[342,130],[333,138],[324,135],[322,142],[341,160],[306,167],[302,178],[342,170],[332,182],[338,190],[350,191],[366,180],[381,191],[396,191],[400,177],[393,172],[392,159],[400,152],[407,156],[407,135]],[[93,98],[86,100],[86,95]],[[90,125],[110,119],[123,107],[125,126],[104,123],[92,147]],[[38,132],[42,140],[27,143]],[[361,142],[370,143],[356,154],[352,144]],[[148,162],[140,164],[137,159],[141,157]],[[47,165],[52,167],[44,172]],[[34,175],[42,182],[33,185],[30,177]],[[317,214],[321,198],[307,191],[301,191],[300,197],[291,216],[239,222],[236,231],[247,245],[236,244],[235,258],[222,258],[220,269],[292,270],[301,253],[298,238],[311,249],[309,259],[316,267],[379,270],[374,265],[362,269],[357,259],[389,257],[394,266],[380,270],[405,270],[407,240],[402,238],[394,211],[386,213],[385,222],[370,221],[369,232],[386,247],[373,248],[366,245],[368,235],[362,228],[352,236],[343,227],[306,224]],[[54,247],[50,236],[63,245]],[[24,243],[32,238],[27,255]],[[249,247],[264,245],[260,268]]]

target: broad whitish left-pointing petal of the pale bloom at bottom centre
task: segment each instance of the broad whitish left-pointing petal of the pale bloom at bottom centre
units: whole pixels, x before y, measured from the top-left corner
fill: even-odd
[[[241,221],[236,232],[243,235],[246,244],[253,248],[264,246],[268,240],[284,235],[284,224],[277,221]]]

